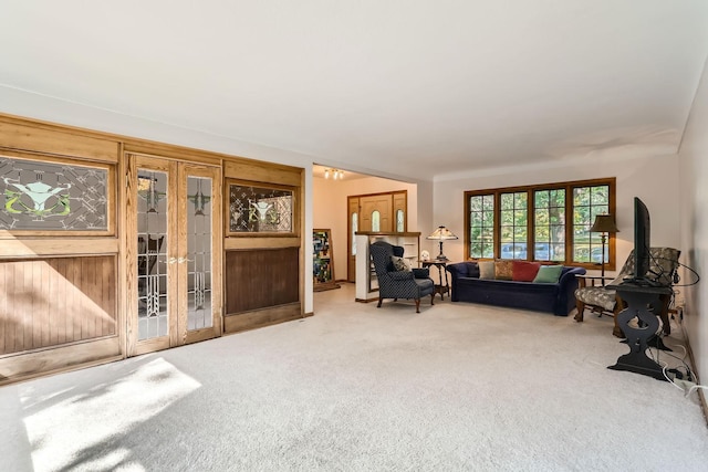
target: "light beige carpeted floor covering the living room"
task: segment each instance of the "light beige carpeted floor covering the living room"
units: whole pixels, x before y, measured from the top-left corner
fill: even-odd
[[[343,284],[314,317],[2,387],[0,470],[708,468],[695,394],[606,368],[628,352],[611,318],[353,300]]]

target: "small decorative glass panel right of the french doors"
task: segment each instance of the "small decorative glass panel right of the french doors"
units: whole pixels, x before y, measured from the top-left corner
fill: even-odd
[[[232,233],[292,233],[293,191],[229,185],[229,231]]]

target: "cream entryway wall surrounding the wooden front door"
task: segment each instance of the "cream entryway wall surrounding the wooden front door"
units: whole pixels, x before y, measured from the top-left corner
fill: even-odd
[[[344,180],[330,180],[323,178],[314,178],[313,180],[313,228],[332,230],[334,276],[336,280],[346,280],[346,219],[348,211],[346,206],[348,196],[407,190],[408,231],[420,231],[418,230],[418,185],[416,183],[402,182],[378,177],[347,180],[346,176]],[[429,195],[427,200],[430,200]],[[429,214],[429,212],[427,214]]]

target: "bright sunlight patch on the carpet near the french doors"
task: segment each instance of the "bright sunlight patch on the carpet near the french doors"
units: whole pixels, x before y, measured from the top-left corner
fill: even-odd
[[[201,385],[163,358],[138,367],[115,381],[84,395],[38,399],[28,391],[25,410],[39,410],[24,419],[35,471],[144,470],[122,448],[106,450],[112,438],[129,436],[136,424],[149,420]],[[44,400],[49,405],[42,407]],[[96,418],[96,421],[86,421]],[[100,452],[98,454],[96,452]]]

